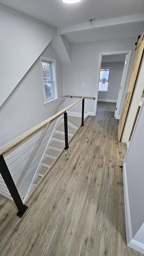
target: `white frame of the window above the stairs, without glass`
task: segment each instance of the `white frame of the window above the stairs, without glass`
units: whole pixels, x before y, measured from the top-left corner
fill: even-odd
[[[47,81],[47,82],[52,82],[52,86],[53,86],[53,98],[50,98],[50,99],[46,99],[46,95],[45,95],[45,86],[44,86],[45,81],[44,81],[44,77],[43,77],[43,69],[42,69],[42,64],[41,64],[42,62],[50,62],[51,63],[50,72],[51,72],[52,80]],[[40,56],[40,66],[41,66],[42,84],[43,84],[43,92],[44,92],[44,104],[48,105],[51,102],[56,101],[58,99],[56,60],[52,59],[52,58]]]

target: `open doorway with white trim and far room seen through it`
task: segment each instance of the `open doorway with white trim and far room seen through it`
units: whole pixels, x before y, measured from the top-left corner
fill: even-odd
[[[96,84],[96,101],[116,102],[115,118],[120,118],[120,106],[125,87],[131,50],[100,52]]]

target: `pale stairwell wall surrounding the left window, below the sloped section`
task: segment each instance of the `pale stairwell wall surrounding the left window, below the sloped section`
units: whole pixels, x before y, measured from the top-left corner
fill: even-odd
[[[58,96],[63,96],[61,62],[49,44],[42,56],[56,59]],[[57,104],[44,105],[40,58],[29,69],[0,108],[1,146],[20,136],[52,115]]]

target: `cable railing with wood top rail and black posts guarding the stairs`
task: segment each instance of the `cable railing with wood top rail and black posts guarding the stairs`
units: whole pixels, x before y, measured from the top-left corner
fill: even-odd
[[[56,113],[62,98],[79,98]],[[84,100],[63,96],[53,115],[0,148],[0,194],[15,202],[19,217],[27,199],[50,171],[80,126],[84,125]]]

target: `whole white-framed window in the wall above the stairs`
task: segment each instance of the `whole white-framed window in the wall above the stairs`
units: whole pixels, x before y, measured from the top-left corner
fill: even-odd
[[[56,63],[54,59],[40,57],[45,104],[57,99]]]

